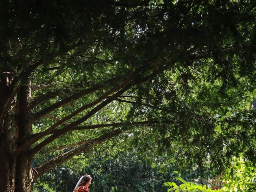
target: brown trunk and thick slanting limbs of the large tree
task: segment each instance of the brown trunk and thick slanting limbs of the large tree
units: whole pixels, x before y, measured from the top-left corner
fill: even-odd
[[[8,75],[1,76],[2,80],[0,84],[0,99],[2,102],[0,106],[0,112],[1,117],[3,117],[4,120],[2,121],[3,123],[1,124],[0,131],[0,152],[3,154],[0,156],[0,192],[30,192],[32,183],[49,169],[60,164],[61,162],[72,158],[84,150],[88,150],[97,144],[104,142],[108,138],[112,138],[113,136],[122,133],[123,130],[121,129],[114,130],[110,133],[100,136],[99,138],[91,140],[87,144],[85,143],[82,146],[78,146],[74,150],[70,150],[68,153],[60,155],[46,162],[42,166],[39,166],[36,170],[32,168],[32,158],[34,154],[39,152],[39,150],[41,150],[49,142],[72,130],[81,122],[84,122],[90,118],[93,114],[104,108],[110,102],[116,100],[118,96],[126,92],[134,84],[146,81],[150,79],[150,77],[155,76],[160,71],[156,70],[152,72],[152,74],[140,78],[141,74],[139,73],[142,72],[142,70],[143,68],[135,71],[122,84],[115,86],[114,88],[105,92],[98,99],[94,100],[94,102],[86,104],[82,106],[82,108],[66,116],[54,124],[53,127],[49,128],[47,132],[40,133],[40,135],[47,135],[52,130],[54,130],[54,126],[65,122],[67,119],[80,112],[80,110],[94,106],[94,108],[90,110],[85,116],[72,122],[71,124],[68,124],[62,128],[60,132],[54,132],[52,136],[46,138],[33,149],[31,149],[31,144],[28,144],[30,143],[29,140],[22,139],[30,138],[32,135],[32,123],[34,121],[34,116],[31,112],[32,109],[29,107],[31,103],[30,78],[27,76],[22,76],[22,79],[20,79],[18,82],[16,77],[14,78],[16,82],[10,82]],[[16,88],[13,83],[19,87]],[[16,89],[14,90],[14,88]],[[81,94],[86,94],[86,92],[80,92],[80,94],[77,94],[76,97],[80,97]],[[113,95],[108,97],[110,94]],[[100,104],[96,106],[98,103]]]

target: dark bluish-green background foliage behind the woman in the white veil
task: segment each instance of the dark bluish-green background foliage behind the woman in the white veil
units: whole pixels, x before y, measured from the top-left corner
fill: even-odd
[[[120,151],[116,155],[98,151],[93,153],[93,161],[87,162],[81,172],[58,166],[45,174],[33,186],[33,192],[72,191],[82,173],[90,173],[93,180],[90,190],[94,192],[159,192],[166,191],[163,182],[170,178],[177,167],[165,164],[164,156],[156,158],[158,164],[152,165],[136,152]],[[70,166],[70,165],[66,165]],[[70,166],[72,167],[72,166]],[[196,172],[186,173],[191,180]],[[47,184],[47,185],[46,185]]]

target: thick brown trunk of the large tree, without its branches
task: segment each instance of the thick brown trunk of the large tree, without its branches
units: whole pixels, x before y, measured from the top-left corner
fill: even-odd
[[[10,95],[10,81],[8,77],[2,78],[0,98],[7,101]],[[12,101],[1,125],[0,133],[0,191],[1,192],[30,192],[33,181],[32,157],[25,150],[18,156],[15,149],[23,143],[15,144],[17,138],[28,136],[32,133],[30,111],[28,102],[31,98],[30,81],[21,86],[17,95],[17,102]],[[2,102],[1,111],[6,102]]]

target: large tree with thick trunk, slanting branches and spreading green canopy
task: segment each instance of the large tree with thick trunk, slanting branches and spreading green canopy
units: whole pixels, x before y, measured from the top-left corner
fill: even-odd
[[[255,5],[1,1],[0,191],[120,135],[199,165],[255,156]]]

